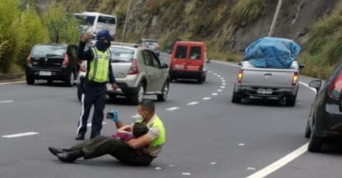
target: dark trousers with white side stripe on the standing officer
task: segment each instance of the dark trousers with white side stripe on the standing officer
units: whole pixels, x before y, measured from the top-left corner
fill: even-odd
[[[103,122],[103,110],[107,99],[106,83],[86,82],[83,86],[81,99],[81,115],[78,120],[77,134],[85,135],[91,106],[94,105],[93,120],[91,121],[90,137],[100,135]]]

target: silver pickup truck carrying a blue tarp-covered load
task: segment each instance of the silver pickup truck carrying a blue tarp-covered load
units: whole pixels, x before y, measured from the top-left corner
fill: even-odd
[[[241,68],[234,84],[232,103],[241,103],[242,98],[285,99],[286,105],[296,105],[299,89],[299,64],[294,61],[290,68],[255,68],[249,61],[239,63]]]

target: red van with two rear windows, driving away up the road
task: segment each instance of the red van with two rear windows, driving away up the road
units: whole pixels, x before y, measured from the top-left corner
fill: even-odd
[[[170,79],[195,79],[203,83],[207,76],[206,58],[207,47],[203,42],[177,41],[171,53]]]

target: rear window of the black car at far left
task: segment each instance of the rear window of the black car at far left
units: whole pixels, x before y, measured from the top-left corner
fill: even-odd
[[[31,52],[32,56],[64,56],[66,46],[41,45],[34,46]]]

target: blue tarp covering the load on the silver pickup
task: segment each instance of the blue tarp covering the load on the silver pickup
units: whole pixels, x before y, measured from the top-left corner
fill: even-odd
[[[250,44],[242,61],[257,68],[290,68],[301,47],[287,38],[263,37]]]

